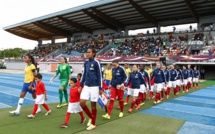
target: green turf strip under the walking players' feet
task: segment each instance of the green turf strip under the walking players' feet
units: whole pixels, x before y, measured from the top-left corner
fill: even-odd
[[[215,81],[208,80],[201,82],[199,87],[205,88],[214,84]],[[194,92],[197,90],[191,90]],[[172,92],[172,91],[171,91]],[[190,93],[189,92],[189,93]],[[180,93],[178,97],[184,94]],[[169,100],[173,99],[171,96]],[[164,100],[163,102],[168,101]],[[146,104],[141,107],[146,109],[152,106],[153,100],[147,100]],[[80,124],[80,117],[78,114],[71,114],[69,128],[62,129],[59,127],[64,122],[67,107],[56,109],[57,104],[50,104],[52,113],[45,116],[45,110],[42,108],[42,113],[37,114],[34,119],[28,119],[26,115],[32,112],[33,106],[23,107],[20,116],[9,115],[8,111],[14,108],[0,109],[0,134],[72,134],[72,133],[86,133],[86,124]],[[115,103],[117,105],[117,103]],[[130,105],[125,106],[124,117],[118,118],[119,111],[113,110],[111,119],[105,120],[101,116],[105,114],[103,109],[98,107],[97,128],[93,132],[87,133],[165,133],[173,134],[183,125],[184,121],[175,120],[164,117],[156,117],[151,115],[137,114],[134,110],[132,114],[127,112]],[[168,123],[168,124],[167,124]],[[119,125],[121,124],[121,125]],[[120,126],[120,127],[118,127]]]

